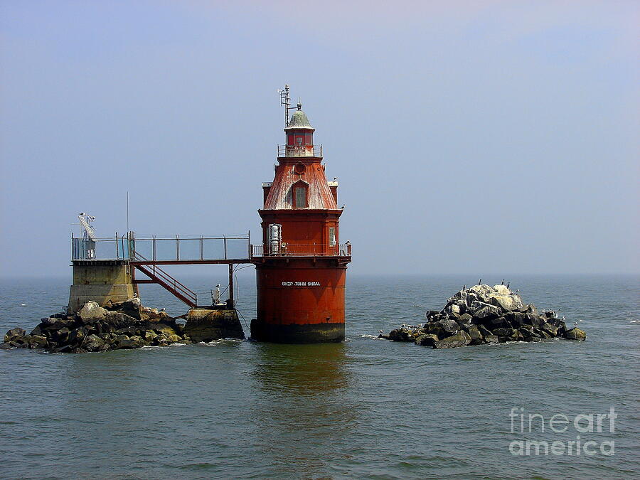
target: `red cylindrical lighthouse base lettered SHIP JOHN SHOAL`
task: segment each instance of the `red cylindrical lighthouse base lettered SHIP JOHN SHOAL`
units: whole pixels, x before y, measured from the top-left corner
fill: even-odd
[[[277,343],[344,340],[346,265],[335,257],[256,262],[257,319],[251,338]]]

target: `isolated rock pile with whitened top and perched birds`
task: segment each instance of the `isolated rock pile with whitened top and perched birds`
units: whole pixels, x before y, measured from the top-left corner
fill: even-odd
[[[441,311],[427,311],[427,322],[402,325],[380,338],[409,341],[433,348],[454,348],[508,341],[542,341],[562,337],[584,341],[587,334],[577,327],[567,329],[554,311],[538,312],[533,304],[523,304],[517,292],[504,285],[479,284],[462,289]]]

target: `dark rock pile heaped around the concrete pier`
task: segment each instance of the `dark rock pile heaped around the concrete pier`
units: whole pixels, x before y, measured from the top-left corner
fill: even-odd
[[[140,299],[107,304],[87,302],[77,314],[55,314],[36,326],[30,334],[11,329],[0,348],[43,348],[51,353],[102,352],[142,346],[191,343],[164,311],[142,306]]]

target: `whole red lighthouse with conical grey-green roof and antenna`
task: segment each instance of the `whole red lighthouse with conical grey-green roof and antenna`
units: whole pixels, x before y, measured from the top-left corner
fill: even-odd
[[[340,242],[338,181],[327,181],[322,147],[302,104],[282,94],[285,141],[275,176],[262,183],[262,244],[252,245],[257,318],[251,337],[277,343],[343,341],[346,268],[351,244]],[[289,119],[289,110],[294,110]]]

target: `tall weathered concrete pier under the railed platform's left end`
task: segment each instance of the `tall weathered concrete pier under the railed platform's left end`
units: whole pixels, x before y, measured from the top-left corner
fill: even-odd
[[[75,313],[89,300],[100,306],[109,301],[124,302],[134,292],[128,260],[73,260],[68,312]]]

